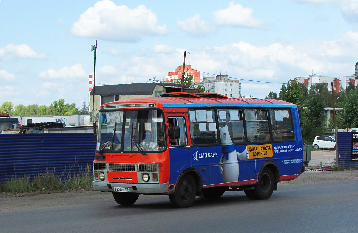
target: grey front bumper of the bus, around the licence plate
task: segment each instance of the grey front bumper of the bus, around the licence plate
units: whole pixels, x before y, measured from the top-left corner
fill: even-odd
[[[93,181],[93,190],[114,192],[114,188],[129,188],[130,193],[168,194],[168,183],[164,184],[128,184]]]

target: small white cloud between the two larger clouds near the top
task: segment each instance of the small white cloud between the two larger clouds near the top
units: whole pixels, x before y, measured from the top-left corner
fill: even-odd
[[[204,36],[213,31],[205,21],[200,20],[199,14],[189,17],[185,21],[177,21],[176,25],[192,36]]]

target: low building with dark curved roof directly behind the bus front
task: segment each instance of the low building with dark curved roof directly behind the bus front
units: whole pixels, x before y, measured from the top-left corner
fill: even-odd
[[[95,86],[91,90],[89,99],[91,122],[93,118],[93,90],[95,91],[94,119],[98,121],[98,112],[102,104],[123,99],[159,97],[163,93],[180,91],[181,85],[176,83],[132,83]]]

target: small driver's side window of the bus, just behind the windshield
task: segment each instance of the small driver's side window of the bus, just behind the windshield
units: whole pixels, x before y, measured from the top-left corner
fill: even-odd
[[[188,144],[185,119],[183,117],[168,118],[169,143],[172,146],[183,146]]]

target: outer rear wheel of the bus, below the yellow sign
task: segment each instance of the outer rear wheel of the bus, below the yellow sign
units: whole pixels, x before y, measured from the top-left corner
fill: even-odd
[[[263,169],[258,178],[258,183],[255,185],[255,197],[257,199],[267,199],[271,197],[274,192],[274,187],[274,174],[271,169]]]

